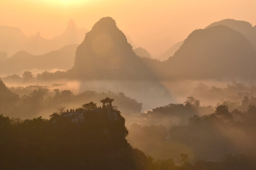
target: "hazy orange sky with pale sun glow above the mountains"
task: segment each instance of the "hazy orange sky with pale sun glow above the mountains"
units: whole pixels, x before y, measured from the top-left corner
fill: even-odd
[[[256,24],[256,0],[0,0],[0,25],[51,38],[69,19],[91,29],[113,17],[137,46],[160,54],[193,30],[233,18]]]

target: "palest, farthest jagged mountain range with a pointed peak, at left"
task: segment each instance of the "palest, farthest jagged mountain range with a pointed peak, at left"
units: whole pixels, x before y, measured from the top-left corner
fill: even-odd
[[[20,28],[0,26],[0,51],[7,52],[9,57],[18,51],[41,55],[66,45],[81,43],[86,32],[86,29],[78,28],[73,20],[68,22],[63,34],[52,39],[41,37],[39,32],[26,36]]]

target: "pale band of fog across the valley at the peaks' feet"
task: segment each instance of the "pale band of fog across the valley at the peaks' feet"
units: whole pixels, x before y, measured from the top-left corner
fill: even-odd
[[[46,86],[50,95],[54,95],[54,89],[70,90],[73,94],[85,91],[124,93],[127,97],[142,103],[142,112],[152,110],[155,107],[169,103],[183,103],[187,97],[192,96],[201,101],[201,105],[215,106],[225,100],[240,101],[243,92],[249,92],[254,82],[241,81],[217,81],[217,80],[173,80],[162,81],[117,81],[117,80],[55,80],[55,81],[11,81],[4,83],[18,95],[28,95],[31,91],[17,91],[15,87],[30,85]],[[239,97],[239,94],[241,95]],[[99,99],[100,100],[100,99]],[[82,102],[82,101],[81,101]],[[98,102],[98,101],[93,101]]]

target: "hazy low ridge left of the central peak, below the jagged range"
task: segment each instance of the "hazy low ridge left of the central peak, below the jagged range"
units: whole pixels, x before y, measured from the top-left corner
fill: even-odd
[[[31,69],[70,69],[73,67],[77,46],[76,44],[68,45],[44,55],[32,55],[27,51],[18,51],[8,59],[5,53],[0,53],[0,72],[1,74],[17,74]]]

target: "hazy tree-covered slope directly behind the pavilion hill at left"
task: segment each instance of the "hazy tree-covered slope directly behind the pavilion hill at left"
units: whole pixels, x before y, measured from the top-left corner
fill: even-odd
[[[57,86],[52,92],[48,86],[12,87],[12,93],[2,81],[0,81],[0,114],[9,117],[34,118],[42,115],[48,117],[48,113],[56,110],[57,107],[74,109],[84,102],[98,101],[111,97],[115,99],[115,106],[118,106],[124,114],[139,114],[142,110],[142,103],[127,97],[124,93],[96,93],[85,91],[73,94],[70,90],[59,90]],[[19,95],[15,94],[18,93]]]

